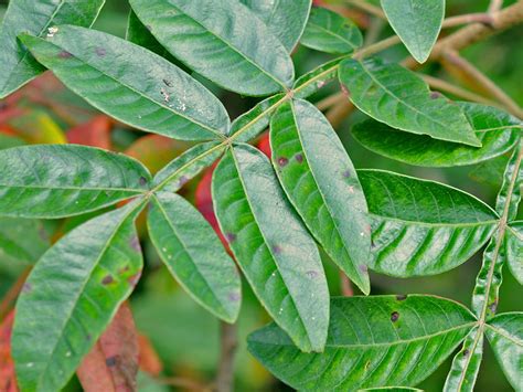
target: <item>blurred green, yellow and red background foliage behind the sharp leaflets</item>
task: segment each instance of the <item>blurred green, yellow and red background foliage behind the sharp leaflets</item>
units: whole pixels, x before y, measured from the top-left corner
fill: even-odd
[[[3,15],[8,1],[0,1],[0,15]],[[378,0],[372,0],[378,4]],[[505,1],[505,6],[514,1]],[[367,14],[350,8],[343,0],[323,1],[339,12],[353,19],[363,31],[370,25],[380,24]],[[482,12],[488,0],[449,0],[447,15]],[[129,7],[125,0],[107,0],[94,28],[119,36],[125,36]],[[377,25],[374,40],[386,38],[392,30],[382,23]],[[446,30],[448,34],[452,30]],[[500,35],[476,44],[462,55],[489,75],[514,100],[523,105],[523,25],[513,28]],[[396,45],[382,54],[396,61],[407,55],[402,45]],[[297,75],[313,68],[331,57],[298,47],[293,55]],[[456,83],[438,64],[429,64],[421,70]],[[225,104],[232,118],[248,110],[256,104],[255,98],[242,97],[217,88],[198,76]],[[322,88],[312,100],[320,100],[338,92],[331,83]],[[372,153],[351,138],[350,128],[363,116],[350,115],[337,127],[349,153],[357,168],[384,168],[410,176],[434,179],[463,189],[490,205],[493,205],[500,187],[501,173],[508,157],[500,157],[476,167],[452,169],[427,169],[403,165]],[[73,93],[65,89],[52,74],[46,73],[30,83],[11,97],[0,100],[0,148],[24,144],[77,142],[93,145],[128,153],[145,162],[151,171],[158,171],[189,144],[170,140],[157,135],[148,135],[111,120],[97,113]],[[15,176],[15,173],[13,173]],[[184,189],[184,195],[194,200],[200,179]],[[201,205],[205,208],[204,205]],[[99,212],[98,212],[99,213]],[[84,222],[89,216],[78,216],[63,221],[22,221],[0,219],[0,296],[6,297],[0,305],[0,317],[4,316],[10,290],[20,276],[26,274],[28,266],[34,263],[64,233]],[[520,219],[522,213],[520,211]],[[143,220],[139,225],[143,229]],[[150,241],[141,230],[147,268],[131,298],[135,319],[141,333],[142,349],[140,391],[194,390],[209,385],[213,380],[220,358],[218,321],[198,306],[162,267]],[[372,294],[427,293],[470,304],[476,275],[480,268],[480,255],[460,267],[434,277],[397,279],[383,275],[372,275]],[[325,257],[325,271],[332,295],[340,294],[337,268]],[[12,292],[12,290],[11,290]],[[501,288],[499,311],[521,310],[522,287],[510,274],[505,274]],[[237,391],[285,391],[288,388],[259,365],[246,351],[246,336],[269,320],[258,305],[249,288],[244,286],[244,301],[238,321],[239,347],[236,358]],[[445,382],[450,359],[420,388],[438,391]],[[67,390],[81,390],[73,380]],[[477,391],[510,391],[493,353],[485,345],[485,359],[482,363]]]

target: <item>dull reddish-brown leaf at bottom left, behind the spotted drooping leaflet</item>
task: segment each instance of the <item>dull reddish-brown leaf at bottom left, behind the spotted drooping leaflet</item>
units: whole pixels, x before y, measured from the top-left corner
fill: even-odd
[[[138,336],[125,303],[76,371],[85,392],[136,391]]]

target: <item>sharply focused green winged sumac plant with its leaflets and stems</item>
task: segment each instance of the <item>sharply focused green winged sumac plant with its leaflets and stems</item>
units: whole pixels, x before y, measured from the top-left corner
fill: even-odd
[[[521,109],[503,106],[506,99],[501,108],[450,100],[408,70],[417,68],[413,59],[381,56],[403,42],[416,61],[457,64],[457,51],[513,25],[521,1],[503,10],[493,1],[482,20],[458,21],[444,21],[444,0],[363,4],[397,33],[374,43],[345,14],[311,9],[310,0],[129,3],[127,40],[90,29],[103,0],[11,0],[3,20],[1,97],[50,70],[119,123],[191,141],[154,176],[129,156],[94,147],[0,151],[2,222],[94,216],[43,253],[21,290],[11,339],[21,391],[58,391],[78,368],[81,381],[96,382],[84,358],[104,359],[107,340],[121,338],[125,327],[107,328],[142,273],[135,227],[142,212],[161,261],[215,317],[235,322],[242,279],[248,283],[274,320],[249,336],[248,349],[295,389],[413,390],[458,351],[444,389],[472,391],[488,340],[522,390],[523,312],[495,315],[502,267],[523,282]],[[477,20],[437,41],[442,27]],[[298,44],[333,57],[296,75]],[[231,121],[195,74],[263,99]],[[352,135],[378,155],[419,167],[510,157],[495,205],[444,183],[356,170],[333,129],[339,121],[314,98],[329,82],[340,86],[337,105],[367,117]],[[449,93],[459,95],[457,88]],[[249,145],[267,127],[269,158]],[[203,171],[214,227],[178,193]],[[440,274],[483,246],[470,309],[430,295],[370,295],[370,269],[403,278]],[[322,258],[362,295],[331,297]],[[115,365],[111,358],[105,365]]]

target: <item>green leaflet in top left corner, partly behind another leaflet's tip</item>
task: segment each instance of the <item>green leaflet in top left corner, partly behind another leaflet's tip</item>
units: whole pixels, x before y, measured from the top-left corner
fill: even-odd
[[[105,0],[11,0],[0,30],[0,98],[4,98],[45,68],[20,45],[17,36],[45,36],[56,24],[90,27]]]

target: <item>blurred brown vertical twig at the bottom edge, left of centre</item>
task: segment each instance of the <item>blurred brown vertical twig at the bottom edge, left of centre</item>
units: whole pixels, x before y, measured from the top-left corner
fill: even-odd
[[[234,385],[234,358],[237,347],[236,325],[220,322],[222,353],[216,375],[216,391],[231,392]]]

